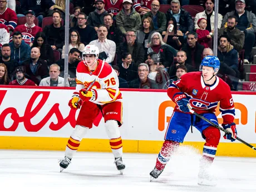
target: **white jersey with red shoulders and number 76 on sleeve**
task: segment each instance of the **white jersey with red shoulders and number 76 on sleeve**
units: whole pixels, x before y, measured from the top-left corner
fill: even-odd
[[[114,69],[102,60],[98,60],[98,66],[95,71],[90,71],[89,68],[81,61],[76,68],[76,91],[79,92],[82,88],[86,88],[93,83],[91,90],[96,93],[96,100],[91,102],[99,105],[104,105],[114,101],[121,101],[122,94],[119,91],[119,79]],[[103,66],[102,66],[103,65]],[[101,70],[101,67],[102,70]],[[100,74],[100,75],[99,75]],[[99,77],[97,77],[99,75]]]

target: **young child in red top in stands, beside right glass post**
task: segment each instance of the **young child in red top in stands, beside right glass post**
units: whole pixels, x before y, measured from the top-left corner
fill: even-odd
[[[198,26],[200,29],[196,30],[198,33],[198,43],[204,46],[204,48],[209,48],[209,42],[211,41],[210,32],[206,30],[207,20],[205,18],[198,19]]]

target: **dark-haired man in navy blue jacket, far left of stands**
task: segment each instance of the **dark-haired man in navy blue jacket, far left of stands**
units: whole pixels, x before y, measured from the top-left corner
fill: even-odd
[[[21,32],[13,33],[11,47],[11,58],[17,61],[18,65],[22,65],[25,60],[30,58],[31,48],[22,40]]]

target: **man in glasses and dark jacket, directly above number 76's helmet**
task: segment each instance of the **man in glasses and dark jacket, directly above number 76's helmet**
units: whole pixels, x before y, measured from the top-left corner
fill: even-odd
[[[89,44],[91,41],[97,39],[97,33],[95,29],[93,29],[92,26],[87,26],[85,23],[87,21],[87,16],[85,13],[79,13],[77,17],[77,23],[78,25],[74,27],[76,31],[78,31],[80,37],[81,37],[81,42],[83,45]]]

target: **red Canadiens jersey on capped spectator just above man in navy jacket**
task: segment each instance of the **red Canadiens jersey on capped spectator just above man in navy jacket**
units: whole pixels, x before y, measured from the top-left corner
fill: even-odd
[[[42,28],[36,26],[35,24],[33,24],[32,27],[28,27],[27,23],[26,24],[20,24],[19,26],[17,26],[13,32],[19,31],[22,33],[22,40],[24,40],[24,42],[26,42],[28,45],[30,43],[33,43],[36,33],[38,32],[42,32]],[[10,39],[10,42],[12,41],[12,37]]]

